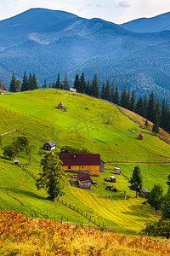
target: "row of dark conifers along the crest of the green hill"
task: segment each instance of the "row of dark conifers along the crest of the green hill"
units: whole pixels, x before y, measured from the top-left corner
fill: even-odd
[[[0,80],[0,88],[2,88],[2,84],[4,86],[4,83],[2,83]],[[89,96],[94,96],[97,98],[102,98],[106,101],[113,102],[122,108],[127,108],[134,113],[138,113],[146,119],[146,126],[148,125],[148,120],[154,123],[153,131],[156,133],[159,133],[159,127],[163,128],[167,132],[170,132],[170,109],[167,99],[163,99],[161,104],[159,100],[155,99],[153,91],[150,93],[149,98],[145,93],[144,98],[140,95],[139,99],[136,101],[134,90],[130,92],[130,90],[127,90],[125,86],[120,93],[118,86],[116,85],[115,87],[114,83],[110,83],[109,79],[107,79],[106,83],[104,82],[102,84],[102,88],[99,90],[97,74],[94,74],[94,78],[90,83],[89,80],[86,81],[84,73],[82,73],[80,77],[77,73],[72,85],[73,88],[77,90],[77,92],[85,93]],[[44,79],[42,88],[70,90],[67,72],[65,72],[65,76],[62,82],[60,81],[59,73],[57,75],[56,81],[53,84],[47,84],[46,79]],[[19,79],[15,79],[14,73],[12,74],[9,91],[17,92],[35,89],[38,89],[37,77],[35,73],[33,73],[33,75],[30,73],[29,77],[27,78],[25,71],[22,82],[20,82]]]

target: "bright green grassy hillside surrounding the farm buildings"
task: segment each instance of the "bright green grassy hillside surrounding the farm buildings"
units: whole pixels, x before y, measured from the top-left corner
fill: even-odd
[[[65,104],[66,111],[56,108],[59,102]],[[163,157],[169,157],[170,145],[139,127],[114,105],[77,93],[42,89],[0,96],[0,110],[0,133],[18,129],[44,141],[54,140],[59,147],[71,145],[88,148],[92,153],[101,154],[102,160],[148,161],[148,164],[139,164],[144,188],[150,190],[154,183],[161,183],[164,192],[167,191],[170,166],[163,164],[168,161]],[[107,121],[111,124],[106,124]],[[130,131],[130,128],[142,131],[144,141],[139,141],[137,134]],[[3,147],[18,136],[21,136],[19,132],[3,136]],[[43,143],[32,137],[30,139],[31,163],[26,153],[20,153],[17,159],[38,175],[44,154]],[[44,200],[46,192],[37,191],[33,177],[3,158],[3,147],[0,148],[1,209],[20,211],[31,217],[60,219],[63,215],[64,221],[69,218],[73,222],[88,224],[87,218],[61,202]],[[160,163],[152,165],[151,161]],[[116,176],[118,192],[105,189],[107,183],[104,178],[114,175],[114,165],[107,164],[105,172],[94,177],[98,188],[93,185],[91,190],[83,190],[71,187],[66,182],[62,199],[67,201],[67,205],[71,204],[80,212],[88,213],[98,224],[105,224],[119,232],[139,232],[145,222],[156,220],[155,211],[142,204],[144,198],[141,196],[135,198],[135,192],[128,188],[127,178],[122,175]],[[135,165],[128,163],[116,166],[130,177]],[[124,189],[127,190],[127,200],[124,199]]]

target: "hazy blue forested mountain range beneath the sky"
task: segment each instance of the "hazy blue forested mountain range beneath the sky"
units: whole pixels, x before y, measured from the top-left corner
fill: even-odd
[[[170,96],[170,13],[116,25],[106,20],[84,19],[71,13],[29,9],[0,21],[0,78],[8,87],[11,75],[24,71],[53,83],[77,73],[99,85],[107,79],[136,96]]]

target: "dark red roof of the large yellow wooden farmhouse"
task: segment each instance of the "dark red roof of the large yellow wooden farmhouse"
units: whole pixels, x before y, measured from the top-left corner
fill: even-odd
[[[100,166],[99,154],[59,154],[63,166]]]

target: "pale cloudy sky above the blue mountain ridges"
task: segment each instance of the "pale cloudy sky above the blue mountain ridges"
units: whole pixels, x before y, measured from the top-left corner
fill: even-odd
[[[0,20],[31,8],[59,9],[117,24],[170,11],[169,0],[0,0]]]

